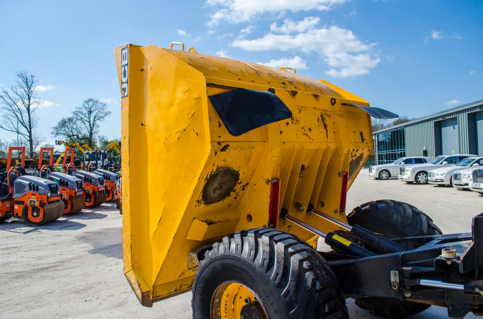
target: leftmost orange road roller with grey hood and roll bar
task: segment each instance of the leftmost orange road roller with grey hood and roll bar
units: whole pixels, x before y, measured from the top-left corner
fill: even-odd
[[[23,166],[11,166],[13,150],[22,151],[21,164],[25,163],[26,147],[10,146],[7,172],[0,182],[0,221],[18,216],[29,226],[40,226],[61,217],[64,205],[60,188],[49,180],[27,175]]]

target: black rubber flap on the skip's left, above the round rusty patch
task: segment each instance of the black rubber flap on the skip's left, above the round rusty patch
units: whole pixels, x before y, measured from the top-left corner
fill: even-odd
[[[233,136],[292,117],[284,102],[270,92],[238,89],[209,98]]]

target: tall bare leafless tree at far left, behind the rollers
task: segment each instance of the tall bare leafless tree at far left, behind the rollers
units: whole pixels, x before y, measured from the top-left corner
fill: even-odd
[[[18,133],[28,141],[30,156],[34,152],[34,134],[38,127],[35,110],[42,103],[36,97],[35,84],[37,80],[26,71],[16,72],[15,84],[8,86],[8,90],[1,88],[0,111],[2,120],[0,128],[5,131]]]

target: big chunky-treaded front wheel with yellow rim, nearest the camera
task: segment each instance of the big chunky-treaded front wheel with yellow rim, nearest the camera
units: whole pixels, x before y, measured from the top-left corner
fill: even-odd
[[[199,262],[191,306],[204,318],[349,318],[325,260],[296,236],[243,230],[213,244]]]

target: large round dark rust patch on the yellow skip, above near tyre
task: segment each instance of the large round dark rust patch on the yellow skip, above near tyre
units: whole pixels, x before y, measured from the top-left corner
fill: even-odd
[[[235,186],[240,180],[240,172],[231,167],[217,167],[206,179],[201,199],[205,205],[217,203],[226,199],[235,191]]]

